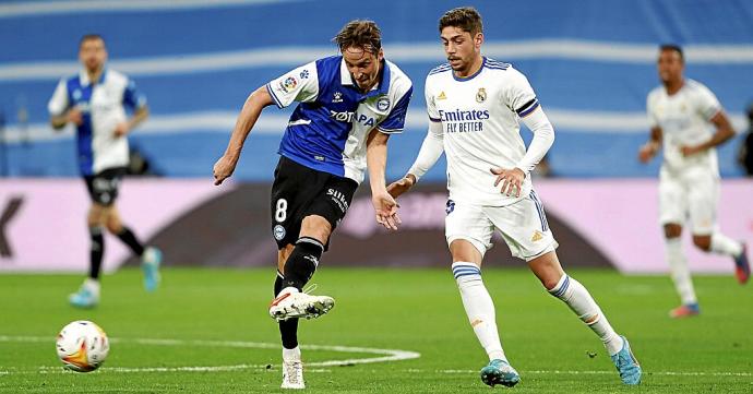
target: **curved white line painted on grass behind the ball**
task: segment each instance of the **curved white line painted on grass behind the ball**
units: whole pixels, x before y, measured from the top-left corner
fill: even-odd
[[[55,337],[47,336],[9,336],[0,335],[0,342],[32,342],[32,343],[52,343]],[[138,345],[147,346],[204,346],[204,347],[231,347],[231,348],[256,348],[256,349],[278,349],[278,344],[261,343],[261,342],[243,342],[243,341],[184,341],[184,339],[160,339],[160,338],[110,338],[111,343],[133,343]],[[326,351],[338,351],[338,353],[356,353],[356,354],[372,354],[379,355],[380,357],[370,358],[350,358],[345,360],[325,360],[325,361],[314,361],[307,362],[308,367],[339,367],[339,366],[352,366],[359,363],[373,363],[373,362],[389,362],[389,361],[401,361],[409,360],[421,357],[421,354],[409,350],[399,349],[379,349],[371,347],[350,347],[350,346],[330,346],[330,345],[301,345],[304,350],[326,350]],[[188,367],[143,367],[143,368],[125,368],[125,367],[111,367],[105,368],[100,371],[103,372],[121,372],[121,373],[133,373],[133,372],[226,372],[226,371],[238,371],[248,369],[268,369],[270,365],[249,365],[240,363],[234,366],[188,366]],[[15,373],[63,373],[62,369],[40,367],[39,370],[35,372],[31,371],[16,371],[16,370],[0,370],[0,374],[15,374]]]

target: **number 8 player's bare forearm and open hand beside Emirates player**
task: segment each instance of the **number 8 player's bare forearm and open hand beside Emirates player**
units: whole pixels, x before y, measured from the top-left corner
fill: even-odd
[[[371,184],[371,203],[374,206],[376,223],[387,229],[396,230],[401,224],[397,216],[397,203],[387,193],[384,181],[384,170],[387,163],[389,134],[374,129],[366,142],[366,163],[369,168],[369,183]]]

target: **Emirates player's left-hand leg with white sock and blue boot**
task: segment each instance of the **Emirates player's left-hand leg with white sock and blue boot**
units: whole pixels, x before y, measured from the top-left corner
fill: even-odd
[[[502,350],[497,330],[494,301],[481,279],[481,253],[469,241],[455,239],[450,244],[453,256],[452,272],[461,290],[463,307],[478,342],[489,356],[489,365],[481,369],[481,381],[490,386],[509,387],[521,381]]]

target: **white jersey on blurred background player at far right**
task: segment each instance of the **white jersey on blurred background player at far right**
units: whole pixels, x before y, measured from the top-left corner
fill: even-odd
[[[721,105],[708,87],[685,80],[680,91],[670,96],[664,86],[658,86],[648,94],[646,108],[650,127],[661,128],[665,170],[678,172],[702,166],[719,174],[716,148],[689,157],[680,152],[683,145],[704,143],[714,134],[709,120],[721,110]]]

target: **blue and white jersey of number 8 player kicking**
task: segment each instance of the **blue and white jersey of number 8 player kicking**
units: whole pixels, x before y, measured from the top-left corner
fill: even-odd
[[[342,56],[299,67],[266,84],[279,108],[299,102],[278,153],[309,168],[361,182],[366,141],[374,128],[399,133],[413,83],[384,60],[378,84],[361,93]]]

